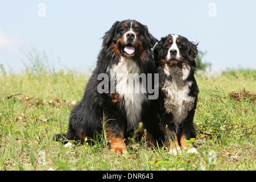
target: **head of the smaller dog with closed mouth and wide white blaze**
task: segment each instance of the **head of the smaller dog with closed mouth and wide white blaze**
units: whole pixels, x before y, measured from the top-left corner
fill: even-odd
[[[182,65],[182,63],[195,66],[197,53],[197,44],[189,42],[183,36],[171,34],[162,38],[155,46],[154,60],[157,64],[168,66]]]

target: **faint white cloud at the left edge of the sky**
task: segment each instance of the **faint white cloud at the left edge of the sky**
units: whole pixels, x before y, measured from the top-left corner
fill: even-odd
[[[22,43],[22,39],[19,33],[15,33],[13,36],[8,36],[0,30],[0,49],[4,51],[17,53],[19,52],[19,46]]]

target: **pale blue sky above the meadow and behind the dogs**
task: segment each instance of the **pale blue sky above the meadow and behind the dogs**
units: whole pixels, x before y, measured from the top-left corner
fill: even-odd
[[[157,39],[180,34],[199,42],[213,68],[256,69],[255,8],[256,1],[229,0],[0,1],[0,64],[21,71],[28,61],[20,47],[35,47],[52,65],[87,71],[112,24],[136,19]]]

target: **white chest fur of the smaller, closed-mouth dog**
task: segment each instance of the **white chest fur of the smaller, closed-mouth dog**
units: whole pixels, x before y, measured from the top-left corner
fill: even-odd
[[[179,67],[164,68],[164,72],[172,77],[172,81],[166,81],[162,90],[166,92],[164,106],[168,113],[174,116],[176,130],[180,123],[187,117],[188,111],[192,109],[195,97],[189,96],[189,86],[192,81],[185,81],[189,76],[190,68],[187,65]]]

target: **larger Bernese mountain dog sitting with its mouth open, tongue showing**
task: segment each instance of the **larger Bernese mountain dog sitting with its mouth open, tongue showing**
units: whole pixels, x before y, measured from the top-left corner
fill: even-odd
[[[64,137],[85,142],[85,137],[94,138],[105,129],[112,151],[123,154],[127,151],[125,135],[139,122],[144,123],[149,133],[158,127],[152,124],[155,121],[148,98],[152,92],[144,89],[151,84],[148,75],[155,73],[151,49],[156,42],[147,26],[136,20],[115,22],[103,37],[97,65],[84,97],[73,107],[68,133],[57,134],[55,139]],[[151,86],[152,89],[154,85]]]

